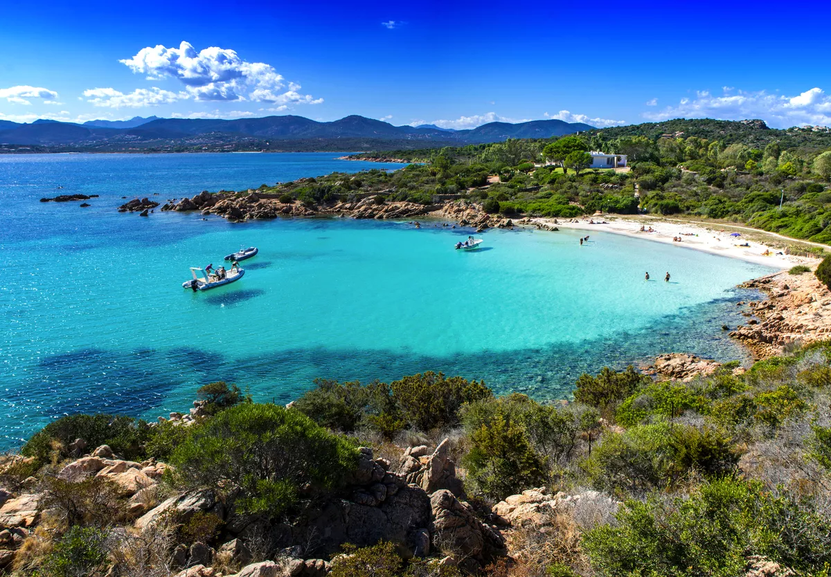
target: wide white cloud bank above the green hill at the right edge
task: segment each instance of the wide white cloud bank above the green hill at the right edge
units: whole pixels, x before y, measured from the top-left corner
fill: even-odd
[[[831,97],[814,87],[799,95],[770,94],[765,90],[747,92],[730,86],[722,87],[724,94],[711,95],[696,92],[695,99],[682,98],[678,105],[664,110],[647,112],[647,120],[671,118],[715,118],[718,120],[746,120],[759,118],[774,128],[795,125],[831,125]]]

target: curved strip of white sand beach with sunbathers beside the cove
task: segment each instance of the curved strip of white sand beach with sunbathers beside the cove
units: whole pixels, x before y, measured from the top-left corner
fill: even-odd
[[[555,226],[559,228],[575,228],[587,231],[602,231],[613,232],[615,234],[623,234],[628,237],[644,238],[656,242],[666,242],[682,248],[692,248],[697,251],[710,252],[711,254],[718,254],[722,257],[740,258],[743,261],[755,262],[756,264],[773,266],[782,270],[789,269],[791,266],[804,264],[814,266],[819,263],[819,259],[808,257],[794,257],[793,255],[779,254],[782,252],[781,248],[774,248],[773,242],[766,244],[764,242],[750,241],[745,239],[744,234],[741,237],[731,237],[730,232],[742,233],[741,227],[721,227],[717,224],[712,227],[707,227],[701,224],[690,224],[682,221],[666,221],[652,218],[622,218],[617,216],[610,216],[604,214],[602,216],[578,218],[578,222],[568,222],[573,219],[563,218],[533,218],[532,222],[539,222]],[[554,221],[557,222],[554,222]],[[590,221],[593,220],[595,224]],[[598,221],[607,221],[606,224],[598,224]],[[640,232],[641,227],[644,226],[647,230],[652,227],[655,232]],[[745,229],[750,230],[750,229]],[[685,236],[685,233],[692,233],[693,236]],[[769,232],[752,229],[750,236],[768,237],[771,241],[775,237],[784,238],[780,235],[774,235]],[[696,236],[697,235],[697,236]],[[681,242],[675,242],[672,237],[681,237]],[[797,243],[788,239],[789,242]],[[739,247],[737,245],[750,244],[750,247]],[[814,242],[806,242],[805,244],[822,246]],[[770,251],[771,256],[765,256],[763,253]]]

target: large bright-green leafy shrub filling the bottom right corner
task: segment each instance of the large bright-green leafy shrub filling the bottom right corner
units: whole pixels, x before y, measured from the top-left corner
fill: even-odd
[[[727,479],[688,498],[627,501],[583,546],[598,575],[745,575],[751,555],[817,575],[831,562],[829,522],[810,501]]]

